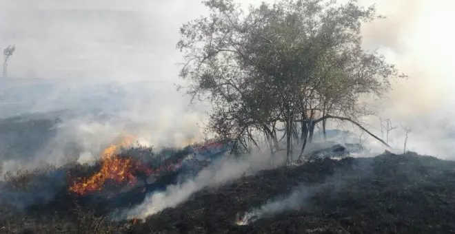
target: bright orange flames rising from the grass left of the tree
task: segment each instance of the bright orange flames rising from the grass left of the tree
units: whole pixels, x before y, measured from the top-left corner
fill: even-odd
[[[128,147],[133,140],[133,136],[126,136],[119,145],[110,145],[106,148],[101,154],[101,160],[103,161],[101,170],[90,178],[78,178],[69,190],[79,195],[85,195],[103,189],[103,184],[107,180],[112,180],[118,184],[125,182],[136,183],[136,178],[132,174],[136,165],[131,158],[115,156],[119,153],[121,147]]]

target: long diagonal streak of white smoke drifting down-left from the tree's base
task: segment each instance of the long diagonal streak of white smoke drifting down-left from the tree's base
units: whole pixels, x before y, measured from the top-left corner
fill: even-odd
[[[125,211],[117,218],[145,219],[164,209],[178,206],[206,187],[217,187],[243,175],[251,175],[255,171],[279,167],[285,162],[284,156],[273,157],[274,163],[271,163],[272,156],[262,153],[252,154],[243,159],[223,158],[200,171],[195,178],[181,184],[171,184],[165,191],[150,193],[141,204]]]

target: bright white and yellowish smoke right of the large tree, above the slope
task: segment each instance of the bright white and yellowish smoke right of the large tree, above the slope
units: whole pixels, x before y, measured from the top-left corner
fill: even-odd
[[[390,143],[403,151],[405,131],[410,128],[407,150],[438,158],[454,158],[455,126],[451,121],[454,105],[451,87],[455,76],[452,65],[454,33],[447,30],[453,21],[448,9],[451,1],[360,1],[376,3],[378,13],[387,19],[363,28],[364,46],[378,49],[398,70],[409,76],[392,83],[385,95],[380,116],[390,118],[396,129]],[[381,133],[378,119],[370,119],[376,134]],[[403,127],[402,127],[403,125]]]

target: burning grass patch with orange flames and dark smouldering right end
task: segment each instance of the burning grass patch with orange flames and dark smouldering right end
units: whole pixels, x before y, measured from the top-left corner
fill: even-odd
[[[146,180],[158,178],[181,167],[179,151],[165,149],[156,155],[146,147],[132,147],[133,136],[126,136],[119,144],[112,144],[101,153],[101,169],[89,177],[76,177],[68,191],[89,195],[105,191],[105,187],[135,187],[138,176]],[[169,158],[165,158],[168,154]],[[169,155],[170,154],[170,155]],[[179,157],[180,156],[180,157]],[[156,161],[158,160],[158,161]]]

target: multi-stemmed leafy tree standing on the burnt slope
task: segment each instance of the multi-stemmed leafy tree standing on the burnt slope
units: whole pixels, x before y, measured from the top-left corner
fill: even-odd
[[[281,134],[288,158],[294,145],[303,155],[329,119],[374,136],[358,123],[368,114],[361,100],[381,96],[396,77],[383,56],[361,48],[361,23],[377,18],[374,8],[283,0],[245,13],[232,0],[203,3],[210,16],[185,23],[177,48],[187,93],[213,105],[212,131],[241,149],[264,136],[272,152],[281,150]]]

